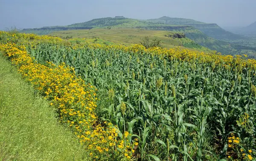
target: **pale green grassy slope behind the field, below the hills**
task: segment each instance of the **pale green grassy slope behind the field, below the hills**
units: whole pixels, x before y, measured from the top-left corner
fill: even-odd
[[[112,28],[112,29],[81,29],[81,30],[67,30],[53,32],[50,35],[59,37],[72,37],[71,42],[86,41],[88,43],[99,44],[123,44],[131,45],[133,43],[140,43],[143,37],[149,36],[151,39],[157,38],[161,40],[163,47],[174,48],[181,46],[181,48],[189,48],[198,51],[209,52],[210,50],[198,45],[189,38],[172,38],[164,35],[174,35],[179,32],[171,31],[155,31],[144,29],[128,29],[128,28]],[[180,33],[181,34],[181,33]]]

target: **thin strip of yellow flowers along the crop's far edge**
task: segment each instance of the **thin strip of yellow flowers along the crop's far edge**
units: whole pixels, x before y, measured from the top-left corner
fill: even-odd
[[[255,59],[247,59],[247,55],[221,55],[221,53],[216,53],[215,51],[211,53],[192,51],[189,49],[181,49],[180,47],[173,49],[166,49],[160,47],[152,47],[146,49],[143,45],[133,44],[131,46],[124,45],[111,45],[104,46],[100,44],[92,44],[92,45],[84,45],[84,44],[76,44],[72,46],[72,49],[84,49],[91,48],[97,50],[104,51],[124,51],[124,52],[132,52],[134,54],[151,54],[151,55],[159,55],[160,57],[168,57],[170,60],[183,60],[183,61],[197,61],[200,63],[212,63],[215,65],[223,65],[226,69],[229,69],[230,66],[236,64],[238,68],[242,69],[244,67],[251,67],[252,69],[256,69],[256,60]]]

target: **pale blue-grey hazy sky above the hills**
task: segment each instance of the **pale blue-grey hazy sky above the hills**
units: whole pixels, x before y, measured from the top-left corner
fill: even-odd
[[[0,29],[61,26],[117,15],[247,26],[256,21],[256,0],[0,0]]]

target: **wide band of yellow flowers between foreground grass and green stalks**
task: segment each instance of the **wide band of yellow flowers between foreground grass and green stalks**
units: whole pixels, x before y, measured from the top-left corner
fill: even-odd
[[[91,158],[119,158],[130,160],[134,152],[131,135],[120,133],[112,124],[101,125],[95,114],[96,88],[77,78],[73,68],[64,63],[47,66],[36,63],[26,52],[24,46],[14,43],[0,45],[19,72],[41,95],[57,107],[60,122],[75,132],[81,144],[90,152]]]

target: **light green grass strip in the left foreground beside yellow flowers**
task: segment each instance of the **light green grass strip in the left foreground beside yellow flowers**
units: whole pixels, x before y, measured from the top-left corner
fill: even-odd
[[[0,55],[0,160],[86,160],[72,132],[58,124],[49,102]]]

